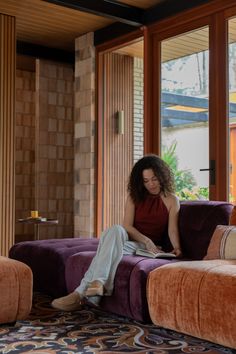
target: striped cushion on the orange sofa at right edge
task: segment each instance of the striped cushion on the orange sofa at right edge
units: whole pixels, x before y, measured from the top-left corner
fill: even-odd
[[[213,233],[207,254],[208,259],[236,259],[236,227],[218,225]]]

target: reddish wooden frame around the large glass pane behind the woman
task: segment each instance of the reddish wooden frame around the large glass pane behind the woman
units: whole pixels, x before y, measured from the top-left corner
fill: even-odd
[[[211,200],[228,200],[228,57],[227,57],[227,23],[229,15],[236,14],[233,1],[222,4],[215,1],[202,5],[197,9],[186,11],[160,21],[149,28],[149,46],[152,47],[153,75],[147,77],[147,87],[151,87],[152,97],[149,97],[151,109],[148,114],[153,118],[146,119],[145,136],[148,137],[147,149],[160,154],[160,62],[161,41],[185,32],[209,26],[209,160],[216,163],[216,184],[210,185]],[[219,11],[220,10],[220,11]],[[150,44],[151,43],[151,44]],[[220,73],[220,75],[219,75]],[[209,162],[210,163],[210,162]]]

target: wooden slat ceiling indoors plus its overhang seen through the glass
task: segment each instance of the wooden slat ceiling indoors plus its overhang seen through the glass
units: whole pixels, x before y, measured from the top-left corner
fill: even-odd
[[[166,0],[122,0],[122,3],[148,9],[164,1]],[[18,41],[71,52],[74,51],[75,38],[114,22],[105,17],[50,4],[43,0],[0,0],[0,13],[16,17]],[[229,32],[230,40],[236,41],[235,19],[230,21]],[[164,42],[162,60],[167,61],[206,48],[208,48],[208,30],[203,28],[170,39],[166,44]],[[119,52],[142,57],[143,42],[128,45]]]

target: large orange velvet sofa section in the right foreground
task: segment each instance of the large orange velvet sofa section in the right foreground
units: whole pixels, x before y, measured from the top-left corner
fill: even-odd
[[[149,273],[154,324],[236,348],[236,260],[167,264]]]

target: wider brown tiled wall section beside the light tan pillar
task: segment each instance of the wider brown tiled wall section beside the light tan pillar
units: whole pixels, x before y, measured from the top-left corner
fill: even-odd
[[[36,208],[58,226],[40,226],[40,237],[73,237],[74,72],[36,61]]]

